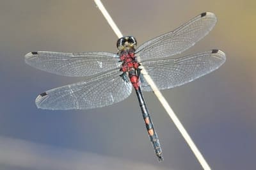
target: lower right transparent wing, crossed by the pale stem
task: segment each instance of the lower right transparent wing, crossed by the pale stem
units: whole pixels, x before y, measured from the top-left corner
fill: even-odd
[[[191,56],[177,59],[162,59],[158,61],[145,61],[142,65],[159,89],[170,89],[191,82],[198,77],[219,68],[226,60],[221,50],[210,50]],[[143,91],[152,91],[150,86],[140,76]]]

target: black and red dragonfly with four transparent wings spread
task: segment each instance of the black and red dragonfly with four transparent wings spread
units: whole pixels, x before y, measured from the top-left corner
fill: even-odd
[[[29,52],[25,61],[30,66],[58,75],[84,77],[84,81],[41,93],[35,104],[40,109],[93,109],[124,100],[131,95],[133,88],[148,136],[160,162],[163,160],[163,151],[142,93],[152,91],[152,88],[144,77],[150,75],[159,89],[170,89],[219,68],[226,57],[218,49],[182,57],[176,55],[204,38],[216,20],[214,13],[201,13],[174,31],[148,40],[138,48],[133,36],[124,36],[116,43],[117,54]],[[147,73],[141,69],[147,70]]]

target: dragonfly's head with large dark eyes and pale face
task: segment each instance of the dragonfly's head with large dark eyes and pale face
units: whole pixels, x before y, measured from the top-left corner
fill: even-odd
[[[136,44],[136,39],[133,36],[124,36],[117,40],[116,47],[118,50],[133,49]]]

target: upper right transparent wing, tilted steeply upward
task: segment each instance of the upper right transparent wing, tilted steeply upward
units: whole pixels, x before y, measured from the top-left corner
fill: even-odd
[[[216,21],[214,13],[201,13],[174,31],[143,43],[136,50],[138,60],[165,58],[179,54],[207,35]]]

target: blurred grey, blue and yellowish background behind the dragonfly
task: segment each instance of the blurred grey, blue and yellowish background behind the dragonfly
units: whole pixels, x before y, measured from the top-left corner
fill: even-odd
[[[103,1],[138,44],[202,12],[218,22],[183,54],[221,49],[226,63],[184,86],[164,90],[212,169],[255,169],[256,2]],[[201,169],[153,93],[148,109],[163,145],[157,162],[135,94],[87,111],[36,109],[51,88],[83,80],[36,70],[30,51],[116,52],[117,37],[93,1],[0,1],[0,169]]]

